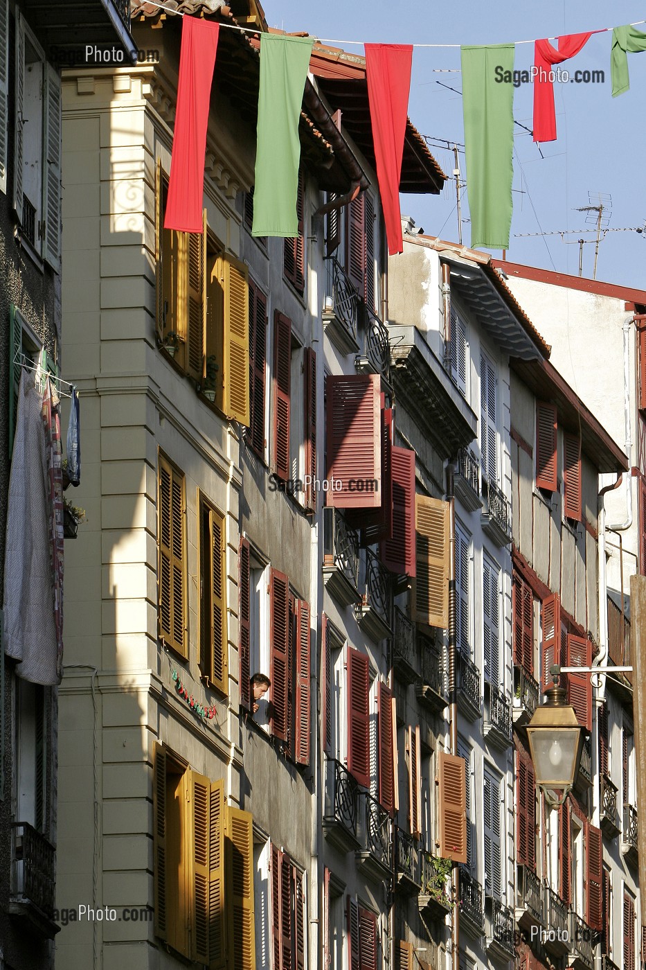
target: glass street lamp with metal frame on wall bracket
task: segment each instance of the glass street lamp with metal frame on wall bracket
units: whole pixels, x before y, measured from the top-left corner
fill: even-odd
[[[579,769],[583,730],[574,708],[559,687],[559,668],[552,667],[554,687],[546,691],[547,703],[536,707],[527,726],[535,782],[549,805],[563,805]],[[559,796],[557,792],[561,792]]]

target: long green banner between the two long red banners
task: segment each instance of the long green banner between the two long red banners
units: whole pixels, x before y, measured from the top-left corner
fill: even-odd
[[[299,121],[313,37],[260,35],[252,236],[299,235]]]

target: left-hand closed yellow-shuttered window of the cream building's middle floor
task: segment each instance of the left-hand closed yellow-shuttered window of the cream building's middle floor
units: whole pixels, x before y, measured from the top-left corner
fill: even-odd
[[[188,657],[184,475],[161,452],[157,474],[159,636]]]

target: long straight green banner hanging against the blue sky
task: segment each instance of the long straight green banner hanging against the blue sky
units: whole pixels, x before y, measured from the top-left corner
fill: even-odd
[[[471,247],[508,249],[514,87],[499,83],[497,70],[513,71],[514,46],[467,47],[461,52]]]

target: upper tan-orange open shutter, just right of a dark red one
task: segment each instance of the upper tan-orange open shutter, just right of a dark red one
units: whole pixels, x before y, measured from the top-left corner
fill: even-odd
[[[415,621],[448,626],[449,503],[415,496]]]

